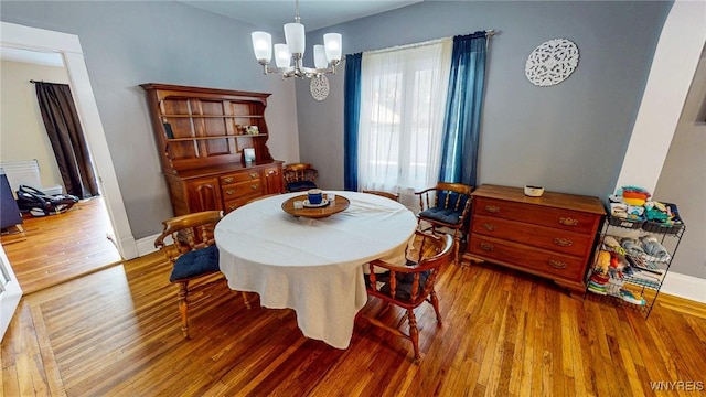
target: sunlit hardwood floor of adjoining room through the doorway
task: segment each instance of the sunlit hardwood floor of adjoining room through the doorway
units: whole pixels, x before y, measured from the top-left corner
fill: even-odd
[[[107,237],[113,230],[101,197],[58,215],[25,216],[22,226],[23,236],[3,236],[2,247],[25,294],[122,259]]]

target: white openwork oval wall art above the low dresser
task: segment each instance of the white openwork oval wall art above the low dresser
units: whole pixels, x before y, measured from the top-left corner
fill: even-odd
[[[567,79],[578,65],[578,47],[566,39],[546,41],[532,52],[525,63],[527,79],[548,87]]]

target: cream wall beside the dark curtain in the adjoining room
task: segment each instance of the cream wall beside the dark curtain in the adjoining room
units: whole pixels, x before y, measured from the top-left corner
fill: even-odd
[[[30,83],[30,79],[68,84],[66,69],[13,61],[2,61],[0,68],[0,160],[36,159],[42,186],[34,187],[63,186],[54,150],[36,101],[34,84]]]

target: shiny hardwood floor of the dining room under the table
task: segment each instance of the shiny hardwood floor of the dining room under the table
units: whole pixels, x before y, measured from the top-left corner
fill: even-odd
[[[695,396],[705,386],[706,307],[665,294],[644,320],[512,270],[450,265],[437,288],[443,324],[430,305],[417,311],[415,365],[408,341],[363,319],[336,350],[303,337],[291,310],[260,308],[255,294],[247,310],[225,283],[192,297],[183,340],[169,271],[156,253],[23,298],[2,341],[0,394]]]

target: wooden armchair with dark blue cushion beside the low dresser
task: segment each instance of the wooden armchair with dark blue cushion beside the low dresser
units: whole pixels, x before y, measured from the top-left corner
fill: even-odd
[[[468,217],[471,210],[472,186],[461,183],[439,182],[434,187],[421,192],[415,192],[419,196],[417,224],[428,223],[432,233],[438,227],[448,227],[453,230],[456,248],[453,260],[459,264],[459,249],[461,238],[468,233]]]

